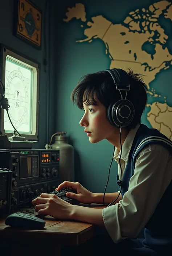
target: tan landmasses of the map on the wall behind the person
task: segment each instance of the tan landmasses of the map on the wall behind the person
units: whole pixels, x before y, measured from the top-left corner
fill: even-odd
[[[87,21],[85,5],[76,3],[67,9],[63,21],[68,23],[75,18],[81,23],[85,39],[77,40],[77,43],[91,43],[97,38],[103,41],[106,46],[105,54],[111,60],[107,68],[130,68],[144,75],[149,97],[154,99],[152,103],[147,104],[150,108],[147,120],[153,128],[172,140],[172,107],[168,105],[166,97],[163,97],[162,102],[161,94],[157,94],[150,86],[160,71],[172,66],[172,54],[166,47],[169,35],[159,24],[162,15],[172,22],[171,2],[158,1],[147,9],[143,3],[142,9],[128,13],[121,24],[113,24],[103,15],[91,17],[91,21]],[[162,87],[164,86],[163,84]]]

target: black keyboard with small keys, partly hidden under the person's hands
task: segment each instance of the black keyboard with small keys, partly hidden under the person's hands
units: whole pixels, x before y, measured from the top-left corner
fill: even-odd
[[[79,203],[77,200],[73,199],[73,198],[69,198],[66,196],[66,193],[67,192],[71,192],[71,193],[75,193],[77,194],[77,191],[76,190],[73,190],[73,189],[70,189],[70,188],[62,188],[61,190],[58,190],[58,191],[52,191],[52,192],[48,192],[47,194],[50,194],[50,195],[56,195],[58,196],[59,198],[71,203],[71,204],[76,204],[76,203]],[[40,195],[34,195],[32,200],[37,198],[37,197],[40,197]]]

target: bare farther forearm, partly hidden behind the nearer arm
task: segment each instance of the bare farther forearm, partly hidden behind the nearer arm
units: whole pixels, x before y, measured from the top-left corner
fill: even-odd
[[[105,194],[105,204],[110,204],[113,202],[117,196],[119,195],[119,192],[114,192],[114,193],[106,193]],[[96,204],[103,204],[103,193],[93,193],[93,202]],[[115,201],[114,204],[119,203],[119,201],[122,200],[122,195],[120,194],[118,199]]]

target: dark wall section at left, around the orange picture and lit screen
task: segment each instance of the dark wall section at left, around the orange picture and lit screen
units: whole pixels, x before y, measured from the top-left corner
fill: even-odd
[[[45,15],[45,0],[37,1],[33,0],[38,7],[42,9],[43,15]],[[27,44],[26,42],[20,40],[19,38],[13,36],[13,0],[1,0],[0,3],[0,44],[4,44],[7,47],[12,48],[13,50],[24,54],[26,57],[32,58],[37,62],[40,62],[40,111],[39,111],[39,142],[34,143],[35,148],[45,148],[45,144],[49,143],[50,136],[54,132],[55,118],[54,118],[54,77],[55,77],[55,56],[54,56],[54,22],[53,19],[54,9],[50,5],[50,32],[49,32],[49,23],[46,19],[46,25],[44,30],[44,19],[42,22],[42,48],[37,50]],[[46,17],[48,16],[48,8],[46,8]],[[45,33],[44,33],[45,31]],[[44,66],[44,57],[45,57],[45,41],[44,34],[46,35],[46,46],[48,49],[49,55],[47,56],[48,65]],[[48,41],[50,34],[50,44]],[[49,50],[50,49],[50,50]],[[48,78],[49,77],[49,78]],[[47,85],[49,83],[49,98],[47,97]],[[49,103],[49,127],[47,127],[47,107]],[[47,129],[48,128],[48,129]]]

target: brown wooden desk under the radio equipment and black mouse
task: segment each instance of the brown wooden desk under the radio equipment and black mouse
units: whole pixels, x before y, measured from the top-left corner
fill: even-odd
[[[89,207],[104,208],[95,205]],[[38,216],[37,212],[32,216]],[[0,216],[0,242],[3,244],[9,241],[12,246],[11,256],[60,256],[61,246],[77,246],[95,236],[93,224],[56,220],[47,215],[44,217],[44,229],[24,230],[5,225],[6,217]]]

